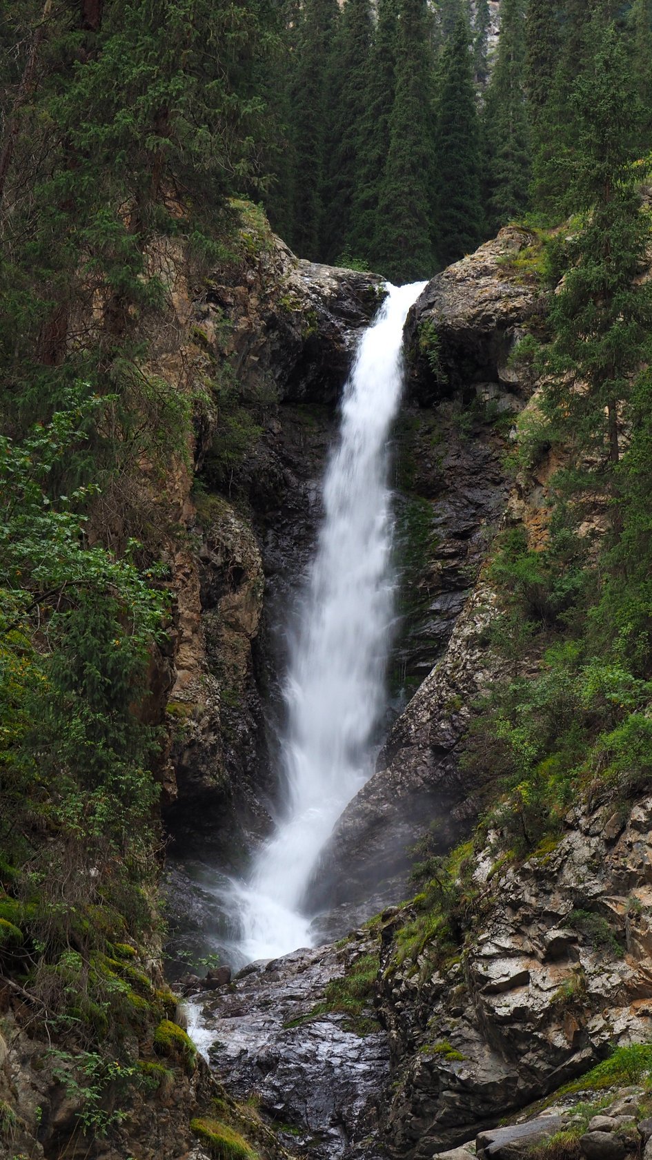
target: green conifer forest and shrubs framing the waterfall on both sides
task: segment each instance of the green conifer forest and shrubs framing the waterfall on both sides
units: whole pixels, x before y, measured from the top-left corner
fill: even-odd
[[[7,1013],[45,1043],[77,1144],[195,1075],[160,969],[161,770],[189,728],[165,705],[195,535],[179,494],[251,517],[239,471],[278,383],[242,384],[224,303],[270,231],[394,284],[528,232],[505,274],[537,287],[512,358],[538,403],[497,438],[515,487],[551,449],[556,473],[545,537],[487,531],[502,667],[462,746],[469,841],[498,829],[520,865],[596,783],[625,812],[650,792],[651,169],[652,0],[3,0],[0,1047]],[[181,269],[223,312],[212,347],[193,331],[200,371]],[[437,342],[419,339],[448,398]],[[419,905],[452,962],[476,887],[426,846]],[[435,935],[410,921],[420,955]],[[23,1160],[2,1082],[0,1154]],[[211,1131],[210,1155],[256,1154]],[[48,1160],[82,1155],[48,1139]]]

